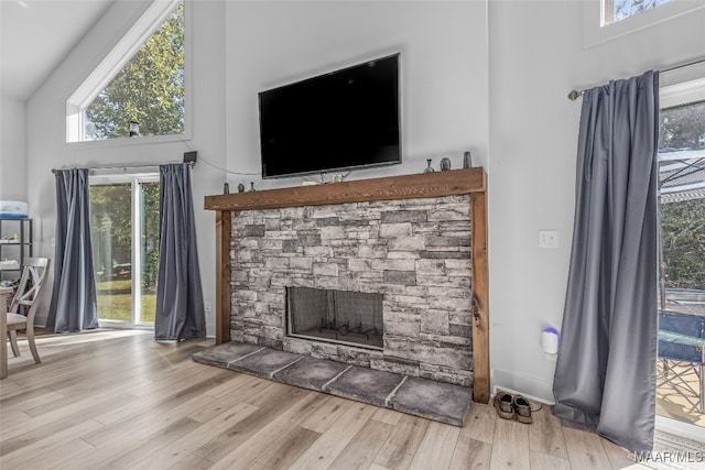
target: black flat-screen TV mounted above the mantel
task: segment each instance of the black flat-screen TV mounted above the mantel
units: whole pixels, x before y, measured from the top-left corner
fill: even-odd
[[[401,163],[399,54],[259,94],[262,177]]]

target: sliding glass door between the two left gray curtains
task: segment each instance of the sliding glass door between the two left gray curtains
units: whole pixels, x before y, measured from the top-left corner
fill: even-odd
[[[102,325],[154,323],[159,176],[94,177],[90,227]]]

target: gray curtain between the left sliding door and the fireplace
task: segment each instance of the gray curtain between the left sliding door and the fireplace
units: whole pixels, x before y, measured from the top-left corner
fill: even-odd
[[[204,338],[206,319],[187,164],[160,166],[156,340]]]

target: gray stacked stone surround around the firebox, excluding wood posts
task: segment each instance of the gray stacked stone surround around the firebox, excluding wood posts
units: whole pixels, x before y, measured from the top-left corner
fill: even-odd
[[[231,214],[232,340],[471,385],[468,195]],[[285,336],[290,286],[383,294],[383,349]]]

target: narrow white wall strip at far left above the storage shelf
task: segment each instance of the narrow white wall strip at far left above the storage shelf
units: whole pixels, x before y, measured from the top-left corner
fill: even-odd
[[[26,201],[24,102],[0,101],[0,200]]]

